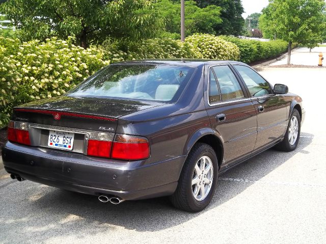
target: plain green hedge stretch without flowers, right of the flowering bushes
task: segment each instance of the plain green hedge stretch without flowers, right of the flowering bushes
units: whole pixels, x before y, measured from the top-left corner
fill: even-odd
[[[236,44],[240,50],[239,61],[251,63],[254,61],[274,58],[287,50],[287,42],[275,40],[261,42],[249,39],[239,39],[232,36],[220,36],[220,38]]]

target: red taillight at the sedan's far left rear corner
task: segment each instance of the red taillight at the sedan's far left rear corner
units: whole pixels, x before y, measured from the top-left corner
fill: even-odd
[[[28,124],[20,123],[18,124],[18,127],[15,128],[15,122],[10,121],[8,124],[8,141],[31,145]]]

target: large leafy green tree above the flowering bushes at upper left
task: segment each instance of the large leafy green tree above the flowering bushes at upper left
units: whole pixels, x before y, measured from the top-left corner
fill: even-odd
[[[107,37],[140,39],[160,31],[153,0],[9,0],[0,13],[22,40],[74,36],[84,48]]]

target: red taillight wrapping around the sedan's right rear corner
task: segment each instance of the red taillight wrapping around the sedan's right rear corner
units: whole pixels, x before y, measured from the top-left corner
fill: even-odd
[[[149,142],[146,138],[117,134],[112,148],[112,158],[140,160],[150,155]]]

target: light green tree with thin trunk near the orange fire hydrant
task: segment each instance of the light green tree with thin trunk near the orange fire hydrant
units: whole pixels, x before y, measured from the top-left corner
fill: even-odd
[[[287,64],[291,61],[292,43],[311,47],[322,41],[324,10],[323,0],[270,1],[266,11],[268,30],[288,42]]]

